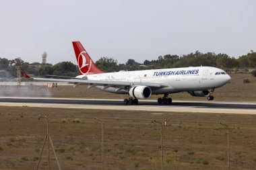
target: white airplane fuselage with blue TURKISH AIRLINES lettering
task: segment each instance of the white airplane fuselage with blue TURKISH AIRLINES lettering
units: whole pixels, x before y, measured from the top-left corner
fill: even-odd
[[[123,81],[133,83],[164,83],[166,87],[152,87],[152,94],[178,93],[181,91],[205,91],[222,87],[230,81],[230,76],[215,67],[185,67],[175,69],[157,69],[144,71],[119,71],[95,75],[79,75],[95,81]],[[116,87],[95,86],[110,93],[128,93],[128,90],[117,91]]]

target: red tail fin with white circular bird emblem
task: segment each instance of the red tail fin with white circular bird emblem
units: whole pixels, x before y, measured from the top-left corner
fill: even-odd
[[[72,42],[73,48],[75,50],[75,56],[80,71],[80,75],[91,75],[104,73],[94,64],[89,54],[86,52],[82,44],[77,42]]]

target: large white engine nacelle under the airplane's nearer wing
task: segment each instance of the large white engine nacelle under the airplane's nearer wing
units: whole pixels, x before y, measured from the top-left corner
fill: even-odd
[[[129,95],[137,99],[147,99],[151,96],[151,89],[148,86],[136,86],[129,89]]]

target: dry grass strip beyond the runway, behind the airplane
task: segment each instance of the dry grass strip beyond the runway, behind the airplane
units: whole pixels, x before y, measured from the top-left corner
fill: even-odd
[[[231,74],[231,83],[214,91],[216,101],[256,101],[256,77],[250,74]],[[249,79],[250,83],[243,83]],[[75,97],[75,98],[100,98],[100,99],[124,99],[128,95],[107,93],[98,89],[88,89],[87,86],[59,86],[53,89],[46,87],[0,87],[0,96],[21,96],[21,97]],[[152,95],[150,99],[156,99],[162,95]],[[205,97],[193,97],[189,93],[171,94],[174,100],[206,100]]]

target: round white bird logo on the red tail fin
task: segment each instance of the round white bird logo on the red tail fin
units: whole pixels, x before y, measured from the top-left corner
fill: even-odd
[[[92,66],[92,60],[90,59],[90,62],[86,60],[86,51],[80,52],[77,60],[78,60],[79,71],[83,74],[88,73]]]

